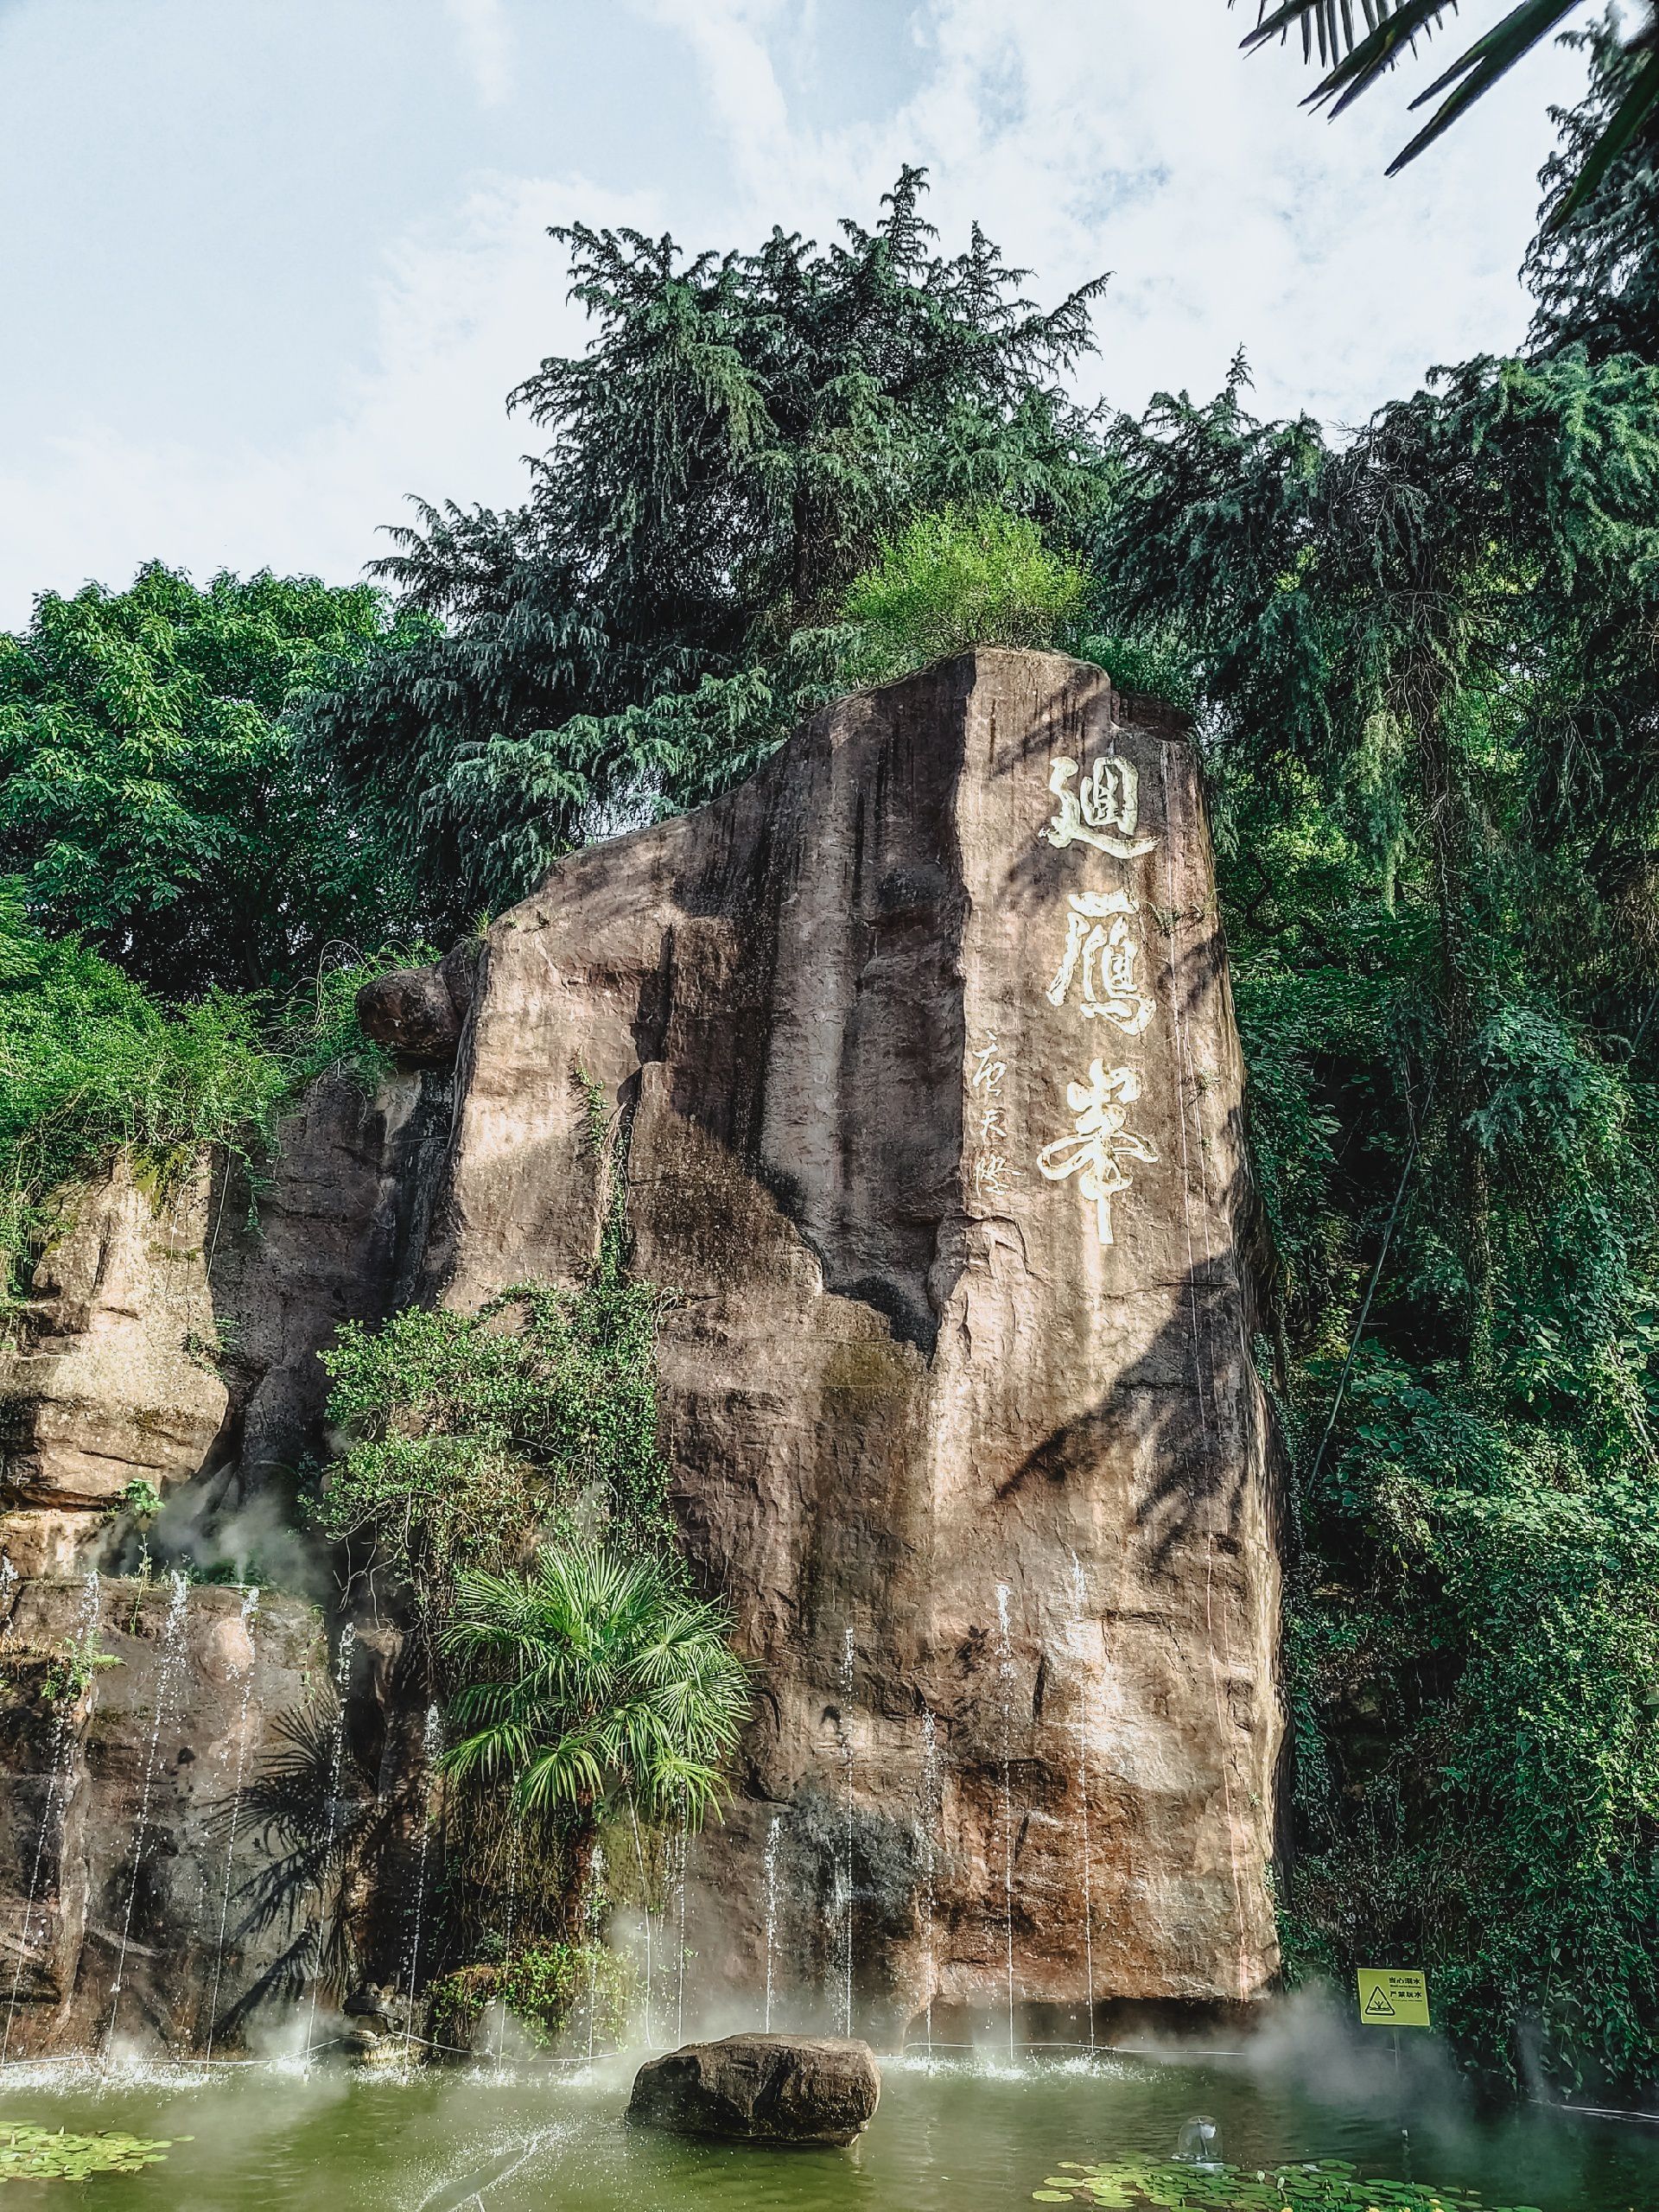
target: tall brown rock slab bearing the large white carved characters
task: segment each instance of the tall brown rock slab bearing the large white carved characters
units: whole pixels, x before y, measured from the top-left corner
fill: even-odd
[[[1097,668],[841,701],[487,940],[427,1287],[670,1287],[664,1433],[759,1670],[699,1980],[1243,2000],[1276,1971],[1270,1433],[1199,770]],[[768,1933],[770,1929],[770,1933]]]

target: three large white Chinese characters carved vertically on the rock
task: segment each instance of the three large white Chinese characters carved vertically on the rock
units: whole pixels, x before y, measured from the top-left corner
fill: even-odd
[[[1042,836],[1066,852],[1088,845],[1115,860],[1135,860],[1157,847],[1157,838],[1139,836],[1139,776],[1135,763],[1119,754],[1099,754],[1082,779],[1077,761],[1055,759],[1048,765],[1048,790],[1060,812]],[[1126,1037],[1144,1035],[1155,1002],[1137,987],[1141,940],[1139,905],[1126,889],[1073,891],[1066,898],[1066,947],[1048,984],[1048,1004],[1077,1009],[1088,1022],[1110,1022]],[[1095,1234],[1102,1245],[1115,1243],[1113,1199],[1135,1188],[1126,1161],[1157,1164],[1150,1137],[1130,1128],[1130,1108],[1141,1095],[1135,1066],[1106,1066],[1091,1060],[1084,1082],[1066,1084],[1066,1106],[1073,1124],[1037,1152],[1037,1172],[1051,1183],[1075,1177],[1079,1194],[1095,1208]]]

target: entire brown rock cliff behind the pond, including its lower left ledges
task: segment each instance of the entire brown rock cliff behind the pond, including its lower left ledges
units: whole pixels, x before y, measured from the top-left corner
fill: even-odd
[[[701,2017],[949,2037],[949,2008],[1256,1995],[1274,1482],[1179,721],[1057,655],[969,655],[560,863],[465,991],[451,967],[389,993],[414,1044],[378,1099],[330,1084],[290,1124],[259,1234],[208,1175],[86,1194],[0,1363],[11,1568],[80,1575],[139,1475],[212,1526],[263,1493],[270,1522],[321,1444],[338,1321],[580,1281],[619,1172],[633,1265],[672,1292],[672,1504],[757,1681],[730,1816],[690,1851]],[[223,1847],[192,1803],[274,1739],[248,1736],[223,1590],[175,1630],[164,1593],[111,1593],[124,1668],[42,1703],[84,1588],[24,1579],[0,1646],[22,2035],[199,2046],[212,2013],[166,1964],[199,1982],[219,1955]],[[325,1663],[283,1604],[268,1719]],[[234,1995],[279,1966],[248,1942]]]

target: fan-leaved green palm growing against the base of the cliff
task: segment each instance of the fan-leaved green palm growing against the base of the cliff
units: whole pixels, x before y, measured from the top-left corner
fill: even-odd
[[[595,1823],[626,1803],[699,1823],[748,1719],[730,1617],[657,1553],[573,1540],[531,1575],[465,1573],[440,1630],[465,1681],[445,1752],[460,1778],[511,1781],[526,1812]]]

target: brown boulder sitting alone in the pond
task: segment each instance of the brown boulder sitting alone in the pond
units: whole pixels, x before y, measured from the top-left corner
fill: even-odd
[[[869,2044],[838,2035],[728,2035],[635,2075],[628,2119],[748,2143],[852,2143],[876,2117]]]

